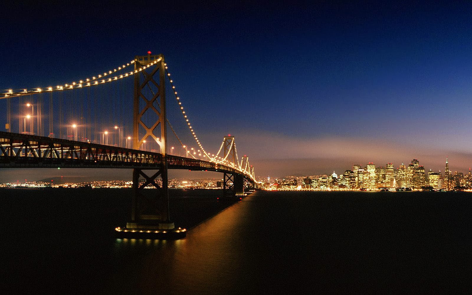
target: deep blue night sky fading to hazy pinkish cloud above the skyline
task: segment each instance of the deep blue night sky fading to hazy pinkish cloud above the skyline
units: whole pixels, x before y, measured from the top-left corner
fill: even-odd
[[[437,172],[446,156],[453,171],[472,166],[467,1],[118,2],[3,1],[0,89],[67,83],[150,50],[206,149],[235,135],[256,175],[412,159]],[[3,169],[0,182],[38,171]],[[96,173],[84,171],[61,173]]]

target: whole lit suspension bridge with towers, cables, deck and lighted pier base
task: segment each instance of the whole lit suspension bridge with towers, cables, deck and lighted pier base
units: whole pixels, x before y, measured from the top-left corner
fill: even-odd
[[[126,228],[116,228],[119,234],[185,236],[170,219],[169,169],[221,172],[228,196],[256,185],[234,136],[224,136],[216,153],[205,149],[162,54],[148,51],[65,84],[6,89],[0,101],[6,102],[0,168],[133,169],[131,216]]]

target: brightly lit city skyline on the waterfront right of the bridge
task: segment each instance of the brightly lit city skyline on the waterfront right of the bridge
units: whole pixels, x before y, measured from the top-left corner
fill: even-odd
[[[472,172],[467,174],[449,170],[446,159],[444,174],[431,169],[425,171],[419,161],[413,159],[410,164],[394,168],[392,163],[376,167],[369,162],[365,167],[353,165],[337,175],[314,175],[285,178],[258,178],[258,187],[267,190],[341,190],[341,191],[472,191]]]

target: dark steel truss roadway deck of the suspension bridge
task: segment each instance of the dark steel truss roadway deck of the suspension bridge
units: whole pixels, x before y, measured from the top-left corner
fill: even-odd
[[[0,131],[0,168],[159,169],[162,163],[162,154],[158,152]],[[205,160],[168,154],[167,166],[238,174],[253,182],[249,173]]]

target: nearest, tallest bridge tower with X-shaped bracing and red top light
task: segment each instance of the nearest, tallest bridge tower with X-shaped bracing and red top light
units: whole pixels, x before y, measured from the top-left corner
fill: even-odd
[[[162,154],[162,164],[157,171],[154,168],[152,174],[146,173],[151,169],[133,169],[131,220],[126,228],[174,228],[169,216],[164,56],[151,55],[151,51],[147,56],[136,56],[135,70],[156,60],[159,60],[156,66],[148,68],[150,72],[143,69],[141,73],[135,74],[133,148],[140,150],[146,141],[156,143]],[[155,119],[149,121],[150,117]],[[145,179],[142,185],[139,183],[140,176]],[[156,189],[144,189],[149,184]]]

